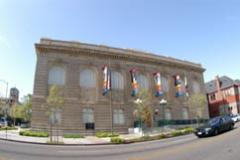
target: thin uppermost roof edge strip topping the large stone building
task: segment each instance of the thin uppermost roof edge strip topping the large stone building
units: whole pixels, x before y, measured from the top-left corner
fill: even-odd
[[[172,57],[166,57],[162,55],[153,54],[150,52],[140,51],[136,49],[125,49],[125,48],[117,48],[117,47],[110,47],[107,45],[96,45],[96,44],[89,44],[89,43],[82,43],[77,41],[63,41],[63,40],[53,40],[49,38],[41,38],[40,43],[35,44],[36,48],[49,48],[49,49],[88,49],[88,50],[95,50],[101,51],[106,53],[112,53],[117,56],[131,56],[137,58],[147,58],[154,61],[162,61],[166,63],[174,63],[183,66],[189,66],[196,68],[201,71],[205,71],[202,68],[200,63],[193,63],[186,60],[179,60]]]

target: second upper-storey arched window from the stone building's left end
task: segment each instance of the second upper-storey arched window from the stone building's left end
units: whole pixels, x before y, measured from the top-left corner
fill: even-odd
[[[96,86],[96,76],[93,70],[84,69],[80,72],[80,86],[81,87]]]

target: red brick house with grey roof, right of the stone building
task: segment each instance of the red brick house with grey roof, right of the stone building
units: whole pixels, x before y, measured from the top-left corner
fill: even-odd
[[[240,111],[240,80],[227,76],[216,78],[205,84],[210,117],[237,114]]]

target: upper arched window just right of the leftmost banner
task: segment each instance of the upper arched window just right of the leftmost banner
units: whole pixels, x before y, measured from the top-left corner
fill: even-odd
[[[123,76],[121,73],[112,71],[111,72],[111,85],[112,89],[123,89]]]

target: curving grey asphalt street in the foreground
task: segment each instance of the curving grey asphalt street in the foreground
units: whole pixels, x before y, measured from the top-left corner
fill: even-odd
[[[124,145],[49,146],[0,141],[0,160],[238,160],[240,128],[198,139],[187,135]]]

